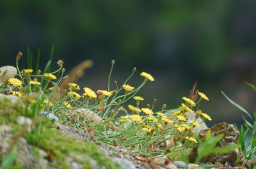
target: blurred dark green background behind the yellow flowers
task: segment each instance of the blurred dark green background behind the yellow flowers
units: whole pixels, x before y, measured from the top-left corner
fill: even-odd
[[[144,104],[157,98],[176,108],[193,82],[209,96],[200,107],[217,122],[241,124],[241,111],[222,96],[224,91],[249,112],[256,94],[244,81],[256,84],[256,1],[0,1],[1,66],[26,68],[27,48],[41,50],[41,66],[55,45],[54,62],[66,70],[84,59],[94,66],[79,80],[94,90],[106,89],[111,60],[112,84],[132,68],[156,78],[140,92]],[[54,66],[52,67],[54,68]],[[129,84],[138,86],[135,75]]]

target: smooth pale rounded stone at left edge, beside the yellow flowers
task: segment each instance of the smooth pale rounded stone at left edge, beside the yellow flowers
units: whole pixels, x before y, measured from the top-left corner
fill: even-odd
[[[3,85],[8,78],[15,77],[17,69],[13,66],[3,66],[0,68],[0,86]]]

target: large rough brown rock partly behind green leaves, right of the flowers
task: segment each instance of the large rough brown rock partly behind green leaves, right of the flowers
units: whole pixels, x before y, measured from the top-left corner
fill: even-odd
[[[210,129],[204,129],[200,131],[199,138],[201,140],[204,140],[205,135],[209,130],[211,131],[212,136],[216,136],[220,134],[224,135],[223,138],[221,138],[220,142],[217,143],[216,147],[225,147],[226,145],[236,144],[239,138],[239,131],[237,131],[234,128],[233,124],[227,124],[225,122],[216,124]],[[193,149],[191,156],[189,156],[189,160],[191,162],[195,161],[196,151],[197,151],[196,149]],[[227,153],[212,153],[202,158],[200,162],[202,163],[209,162],[212,164],[216,162],[220,162],[222,164],[230,163],[231,165],[234,165],[239,153],[240,153],[239,149],[235,149],[234,151],[227,152]]]

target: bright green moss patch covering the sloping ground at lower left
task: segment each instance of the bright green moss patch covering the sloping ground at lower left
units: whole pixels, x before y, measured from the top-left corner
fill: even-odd
[[[17,117],[23,115],[31,117],[33,108],[26,108],[20,104],[12,104],[9,100],[0,100],[0,124],[6,124],[12,127],[13,136],[19,135],[24,126],[16,123]],[[56,168],[70,168],[67,163],[68,156],[74,154],[73,160],[81,163],[83,168],[92,168],[90,159],[97,161],[97,165],[106,166],[106,168],[120,168],[116,163],[113,163],[109,157],[102,153],[102,150],[93,142],[82,142],[75,138],[69,138],[61,135],[60,131],[52,128],[52,122],[38,115],[32,117],[33,128],[31,132],[26,131],[24,138],[32,145],[35,154],[38,149],[42,149],[47,153],[51,166]],[[14,140],[13,140],[14,141]],[[76,158],[82,156],[82,158]],[[3,161],[1,161],[3,162]]]

